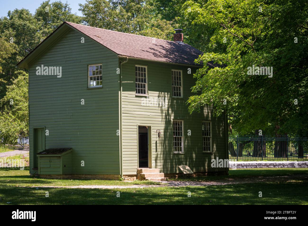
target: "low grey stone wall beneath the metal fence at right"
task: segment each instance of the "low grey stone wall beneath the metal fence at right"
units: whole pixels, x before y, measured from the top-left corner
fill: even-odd
[[[308,168],[308,161],[229,161],[229,169],[251,169],[251,168]]]

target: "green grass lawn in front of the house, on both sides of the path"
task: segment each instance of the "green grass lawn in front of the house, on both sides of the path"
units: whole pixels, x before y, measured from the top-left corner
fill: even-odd
[[[238,169],[229,176],[197,177],[189,180],[216,180],[256,176],[308,174],[307,169]],[[35,179],[28,168],[0,169],[0,204],[308,204],[307,180],[244,183],[188,187],[150,187],[126,189],[39,188],[31,186],[132,185],[155,182]],[[18,187],[27,186],[27,187]],[[116,197],[117,191],[120,197]],[[259,197],[259,191],[262,197]],[[49,197],[46,197],[46,192]],[[191,197],[188,197],[188,192]]]

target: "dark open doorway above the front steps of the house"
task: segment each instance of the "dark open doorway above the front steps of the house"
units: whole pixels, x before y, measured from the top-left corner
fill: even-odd
[[[138,126],[138,163],[139,168],[149,167],[148,126]]]

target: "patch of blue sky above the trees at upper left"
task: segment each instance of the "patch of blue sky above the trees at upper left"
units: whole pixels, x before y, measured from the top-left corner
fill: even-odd
[[[51,0],[50,2],[55,2],[56,0]],[[25,8],[30,10],[30,13],[34,14],[35,10],[41,5],[44,0],[0,0],[0,17],[7,16],[9,10]],[[81,16],[81,12],[78,11],[79,3],[84,4],[86,0],[61,0],[61,2],[67,2],[72,8],[72,13],[77,13]]]

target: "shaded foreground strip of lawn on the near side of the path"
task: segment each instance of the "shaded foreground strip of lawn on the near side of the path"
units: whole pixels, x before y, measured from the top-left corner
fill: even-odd
[[[308,182],[207,187],[73,189],[0,187],[0,204],[308,204]],[[49,197],[45,197],[46,192]],[[120,197],[116,197],[117,192]],[[262,197],[259,197],[259,191]],[[188,197],[190,192],[191,197]]]

